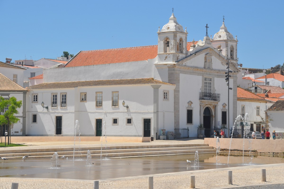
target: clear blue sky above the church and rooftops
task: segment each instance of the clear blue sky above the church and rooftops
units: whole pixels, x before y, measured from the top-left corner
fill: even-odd
[[[187,41],[225,26],[237,35],[239,63],[283,65],[284,1],[6,1],[0,0],[0,61],[56,58],[63,51],[156,45],[158,27],[174,15]]]

